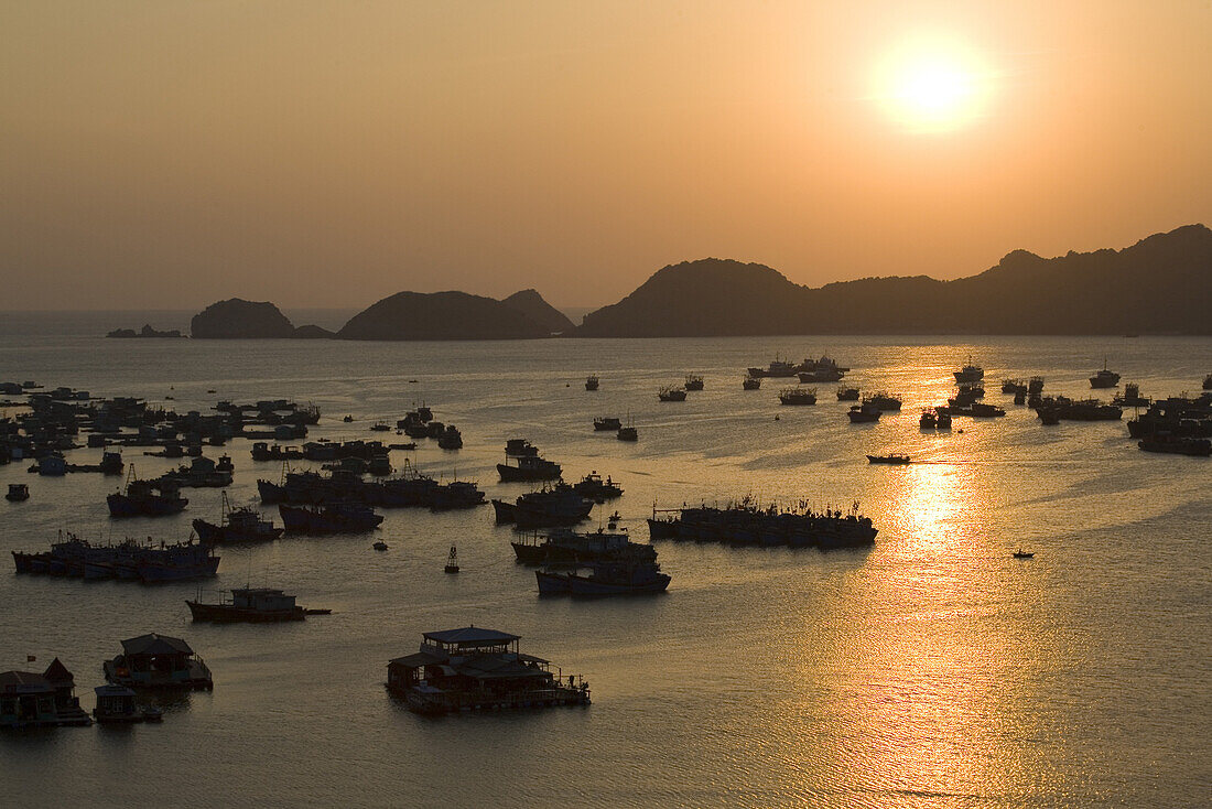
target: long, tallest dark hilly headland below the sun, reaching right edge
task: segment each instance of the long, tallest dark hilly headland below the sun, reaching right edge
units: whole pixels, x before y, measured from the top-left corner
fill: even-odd
[[[1016,250],[979,275],[799,286],[761,264],[669,266],[582,337],[774,334],[1212,334],[1212,230],[1191,224],[1124,250],[1041,258]]]

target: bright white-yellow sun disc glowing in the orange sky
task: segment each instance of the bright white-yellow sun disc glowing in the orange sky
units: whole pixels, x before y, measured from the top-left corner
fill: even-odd
[[[903,127],[944,132],[982,116],[989,73],[971,49],[919,36],[892,49],[876,65],[875,97]]]

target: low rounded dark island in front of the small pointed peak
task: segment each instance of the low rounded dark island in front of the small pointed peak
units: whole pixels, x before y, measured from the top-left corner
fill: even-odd
[[[501,301],[467,292],[396,292],[349,319],[342,340],[519,340],[550,332]]]

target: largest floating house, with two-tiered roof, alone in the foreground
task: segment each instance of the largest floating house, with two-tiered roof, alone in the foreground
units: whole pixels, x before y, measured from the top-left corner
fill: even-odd
[[[522,654],[519,636],[475,626],[425,632],[419,651],[388,663],[387,686],[417,713],[589,705],[589,685]]]

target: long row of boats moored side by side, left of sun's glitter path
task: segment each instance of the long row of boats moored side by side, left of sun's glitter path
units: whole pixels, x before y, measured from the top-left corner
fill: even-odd
[[[790,546],[822,549],[862,547],[875,541],[871,519],[858,512],[828,508],[759,507],[749,498],[724,508],[716,506],[653,509],[648,519],[653,540],[692,540],[749,546]]]

